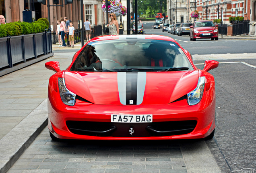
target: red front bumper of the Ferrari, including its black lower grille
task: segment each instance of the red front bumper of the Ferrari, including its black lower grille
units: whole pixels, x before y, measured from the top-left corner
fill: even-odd
[[[197,139],[215,129],[215,99],[194,106],[188,106],[186,99],[167,105],[95,105],[77,100],[71,107],[55,103],[48,100],[48,128],[60,139]],[[153,122],[111,123],[111,114],[152,114]]]

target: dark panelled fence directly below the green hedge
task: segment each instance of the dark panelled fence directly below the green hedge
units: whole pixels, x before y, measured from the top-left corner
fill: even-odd
[[[37,34],[0,38],[0,70],[52,53],[51,38],[52,34],[47,30]]]

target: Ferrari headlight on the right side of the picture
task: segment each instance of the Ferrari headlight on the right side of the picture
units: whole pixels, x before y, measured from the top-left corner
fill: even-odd
[[[204,93],[204,83],[205,77],[200,77],[198,79],[198,84],[196,89],[187,94],[188,105],[196,105],[202,99],[202,95]]]

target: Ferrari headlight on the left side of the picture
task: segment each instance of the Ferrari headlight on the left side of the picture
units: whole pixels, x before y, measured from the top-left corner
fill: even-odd
[[[65,105],[74,106],[76,95],[66,88],[64,78],[58,78],[60,98]]]

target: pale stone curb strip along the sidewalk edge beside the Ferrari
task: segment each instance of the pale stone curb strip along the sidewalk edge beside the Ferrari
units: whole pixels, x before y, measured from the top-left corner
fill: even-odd
[[[0,139],[0,173],[6,173],[48,124],[47,99]],[[29,124],[31,127],[26,127]]]

